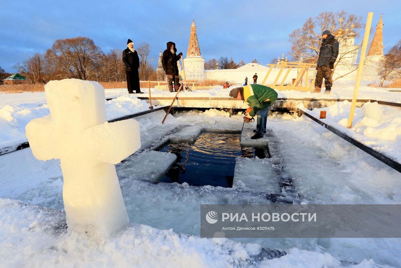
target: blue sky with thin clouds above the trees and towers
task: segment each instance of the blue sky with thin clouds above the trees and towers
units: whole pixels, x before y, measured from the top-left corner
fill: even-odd
[[[202,57],[254,58],[267,64],[290,51],[288,35],[322,11],[346,10],[363,16],[374,12],[372,31],[383,13],[385,52],[401,39],[401,1],[6,1],[0,9],[0,66],[12,66],[44,52],[57,39],[85,36],[104,52],[147,42],[157,64],[159,50],[176,43],[186,55],[192,19]]]

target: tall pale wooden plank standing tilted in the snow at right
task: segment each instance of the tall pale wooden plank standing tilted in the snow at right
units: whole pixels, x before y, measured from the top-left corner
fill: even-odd
[[[372,18],[373,18],[373,12],[369,12],[368,19],[366,22],[366,27],[365,27],[365,35],[363,37],[362,50],[360,51],[360,59],[359,59],[359,64],[358,64],[358,74],[356,74],[354,96],[352,96],[350,116],[348,117],[347,127],[349,129],[352,127],[352,120],[354,119],[356,98],[358,97],[359,84],[360,84],[360,79],[362,77],[362,72],[363,72],[363,64],[365,63],[365,54],[366,54],[366,49],[368,47],[369,32],[371,31]]]

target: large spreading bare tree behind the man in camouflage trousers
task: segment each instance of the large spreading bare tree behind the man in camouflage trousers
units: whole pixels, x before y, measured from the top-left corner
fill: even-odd
[[[365,28],[362,23],[362,17],[355,14],[348,14],[344,10],[340,12],[325,11],[321,12],[315,18],[308,18],[302,28],[295,29],[290,34],[290,43],[292,44],[290,54],[292,61],[301,61],[308,63],[316,63],[319,57],[320,45],[322,43],[322,32],[330,30],[332,35],[337,39],[340,46],[346,44],[346,40],[350,37],[358,37],[359,32]],[[357,55],[362,47],[362,41],[356,45],[348,45],[340,48],[337,61],[334,64],[332,75],[339,63],[344,63],[350,55]],[[369,57],[366,59],[369,61]],[[338,78],[344,77],[354,72],[358,66],[350,65],[348,72]]]

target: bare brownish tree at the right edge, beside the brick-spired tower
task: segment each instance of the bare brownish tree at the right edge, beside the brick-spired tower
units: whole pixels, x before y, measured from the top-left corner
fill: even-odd
[[[385,80],[401,78],[401,40],[392,47],[377,64],[377,74],[381,76],[380,86]]]

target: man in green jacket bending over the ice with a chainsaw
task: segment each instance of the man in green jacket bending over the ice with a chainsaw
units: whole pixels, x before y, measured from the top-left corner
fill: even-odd
[[[259,139],[266,133],[266,121],[269,109],[277,100],[277,92],[273,88],[262,85],[247,85],[234,88],[230,91],[230,97],[243,100],[252,108],[249,114],[245,113],[244,121],[250,123],[257,115],[256,132],[251,139]]]

